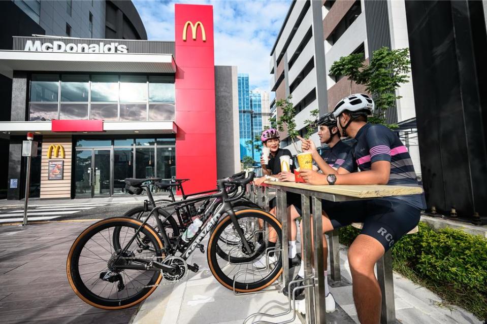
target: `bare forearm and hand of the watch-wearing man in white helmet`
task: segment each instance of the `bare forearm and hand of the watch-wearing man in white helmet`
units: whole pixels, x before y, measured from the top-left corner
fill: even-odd
[[[340,173],[340,171],[348,172],[343,168],[338,169],[338,171],[335,185],[386,185],[389,182],[389,174],[391,174],[391,162],[374,162],[372,163],[371,170],[368,171]],[[326,174],[320,174],[312,170],[303,170],[300,172],[300,175],[311,185],[328,185]]]

